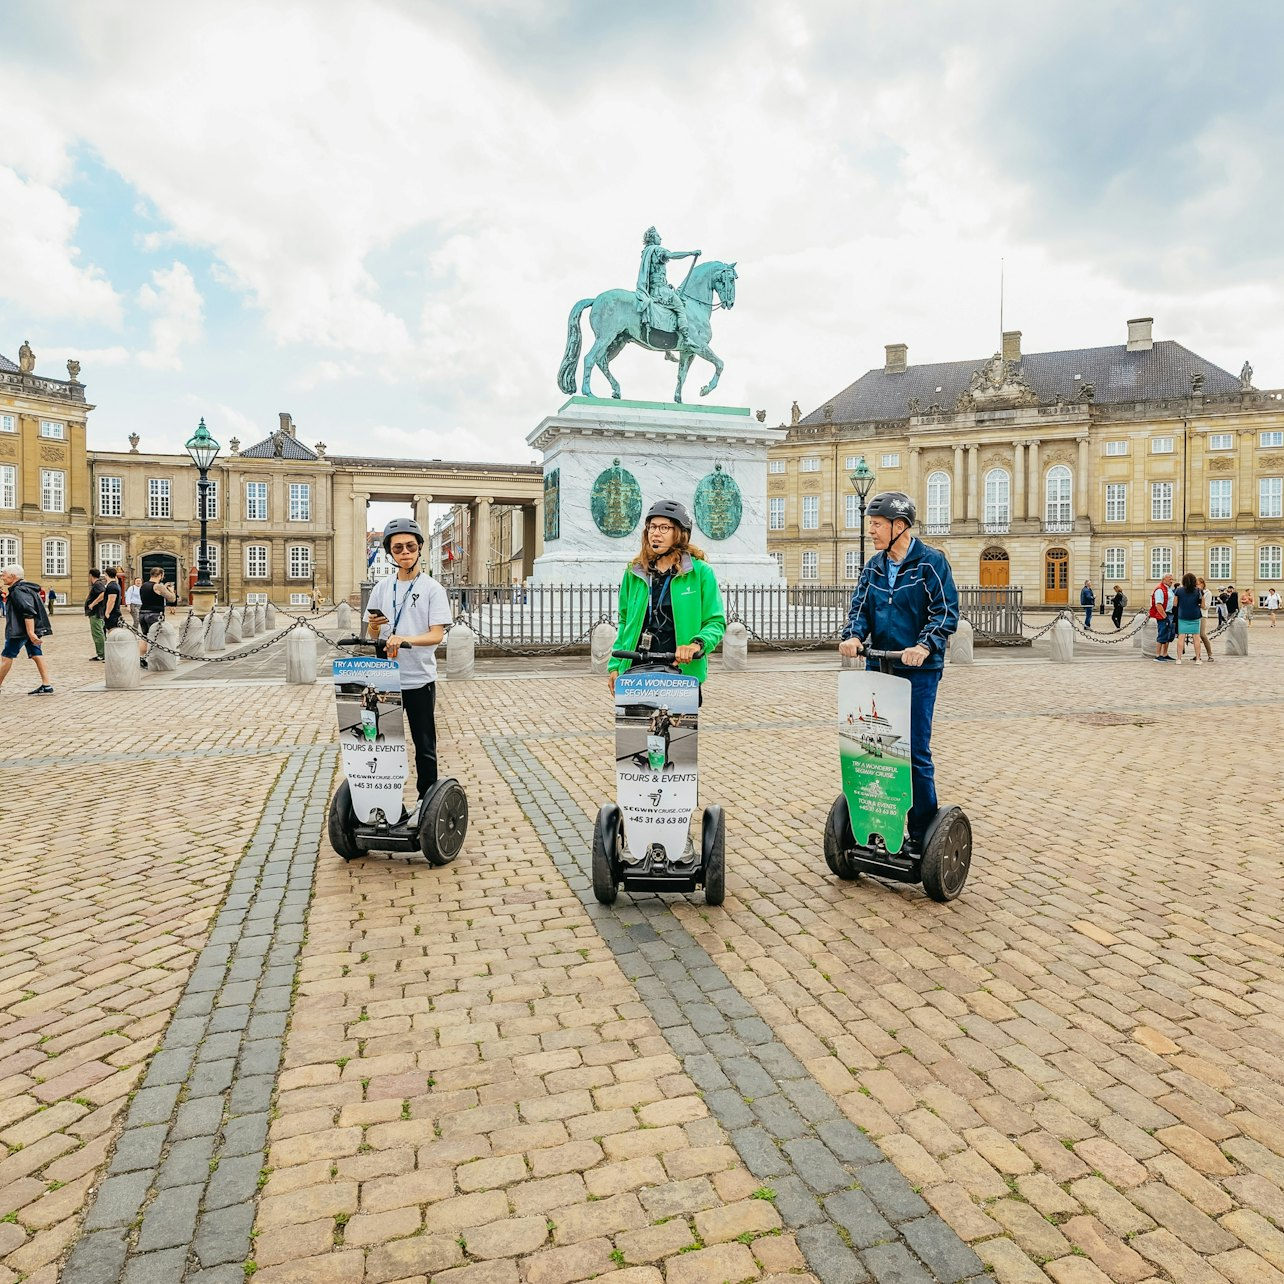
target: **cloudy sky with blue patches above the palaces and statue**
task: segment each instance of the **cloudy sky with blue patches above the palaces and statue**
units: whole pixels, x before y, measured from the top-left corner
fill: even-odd
[[[0,353],[77,357],[94,447],[285,410],[331,452],[528,461],[571,306],[633,286],[650,223],[737,262],[715,397],[768,422],[885,343],[987,356],[1000,258],[1027,352],[1153,316],[1284,385],[1275,0],[3,14]]]

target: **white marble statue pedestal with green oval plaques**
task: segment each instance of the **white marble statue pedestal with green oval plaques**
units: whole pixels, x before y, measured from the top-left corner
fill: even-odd
[[[719,583],[783,583],[767,552],[767,448],[783,439],[783,430],[765,428],[742,407],[571,397],[526,438],[544,456],[544,551],[532,583],[618,583],[642,546],[643,517],[656,499],[677,499],[695,515],[691,542]],[[623,473],[636,483],[636,492],[625,484],[632,505],[621,502]],[[719,474],[738,492],[734,530],[727,483],[718,483],[716,505],[707,497],[696,502],[701,482]],[[593,517],[594,487],[601,508],[609,483],[615,485],[610,533]]]

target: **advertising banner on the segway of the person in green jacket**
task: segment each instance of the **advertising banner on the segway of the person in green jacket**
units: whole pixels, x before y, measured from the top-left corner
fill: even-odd
[[[648,865],[681,862],[696,806],[700,683],[686,674],[615,679],[615,785],[624,837]]]

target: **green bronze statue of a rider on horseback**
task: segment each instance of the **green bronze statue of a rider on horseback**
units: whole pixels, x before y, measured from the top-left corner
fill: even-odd
[[[648,227],[642,238],[642,262],[638,268],[636,290],[603,290],[596,298],[580,299],[570,309],[566,325],[566,352],[557,371],[557,386],[564,393],[575,392],[575,374],[582,347],[580,313],[589,308],[588,324],[593,329],[593,344],[584,356],[584,376],[580,392],[592,397],[588,386],[593,367],[606,376],[611,397],[620,395],[620,385],[611,374],[610,363],[628,343],[663,352],[678,362],[678,385],[673,399],[682,401],[682,385],[693,357],[702,357],[714,367],[714,376],[700,389],[707,397],[723,372],[722,358],[709,347],[713,336],[710,317],[718,307],[736,304],[736,265],[711,261],[692,262],[682,285],[669,284],[670,259],[697,259],[700,250],[670,250],[660,243],[660,234]],[[716,302],[714,302],[716,298]],[[672,353],[677,352],[677,358]]]

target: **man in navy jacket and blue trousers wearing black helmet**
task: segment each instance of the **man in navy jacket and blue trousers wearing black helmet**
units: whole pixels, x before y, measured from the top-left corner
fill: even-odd
[[[900,651],[892,664],[910,684],[909,765],[914,801],[909,809],[909,846],[923,850],[923,835],[936,815],[932,767],[932,711],[945,666],[945,641],[958,628],[959,594],[945,553],[910,534],[914,501],[885,490],[865,510],[874,555],[860,570],[844,641],[838,651],[856,656],[868,641],[878,651]],[[867,669],[877,663],[868,660]]]

